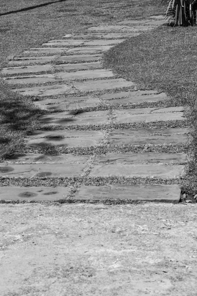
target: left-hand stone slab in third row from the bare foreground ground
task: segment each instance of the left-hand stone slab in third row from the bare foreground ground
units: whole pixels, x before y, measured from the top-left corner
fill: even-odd
[[[8,163],[86,163],[87,156],[72,155],[72,154],[34,154],[21,153],[14,154],[12,157],[6,159]]]

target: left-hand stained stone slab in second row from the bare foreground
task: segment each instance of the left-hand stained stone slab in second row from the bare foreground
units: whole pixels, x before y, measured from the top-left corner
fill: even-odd
[[[0,176],[7,177],[72,177],[80,176],[85,169],[84,163],[57,163],[42,164],[0,164]]]

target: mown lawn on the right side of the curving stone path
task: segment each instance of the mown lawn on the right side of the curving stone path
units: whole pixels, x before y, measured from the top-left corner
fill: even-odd
[[[191,129],[187,180],[182,188],[197,193],[197,28],[157,29],[133,37],[110,49],[104,65],[138,84],[139,89],[157,89],[186,107]]]

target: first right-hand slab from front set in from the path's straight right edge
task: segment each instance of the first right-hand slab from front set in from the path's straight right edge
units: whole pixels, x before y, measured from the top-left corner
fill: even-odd
[[[154,93],[155,92],[155,93]],[[99,95],[99,99],[109,104],[131,104],[147,101],[161,101],[167,99],[165,93],[157,94],[157,91],[125,91],[113,94]]]

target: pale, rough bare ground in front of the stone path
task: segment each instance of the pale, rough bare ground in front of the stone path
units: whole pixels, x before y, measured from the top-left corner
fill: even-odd
[[[195,204],[1,204],[1,296],[196,296]]]

